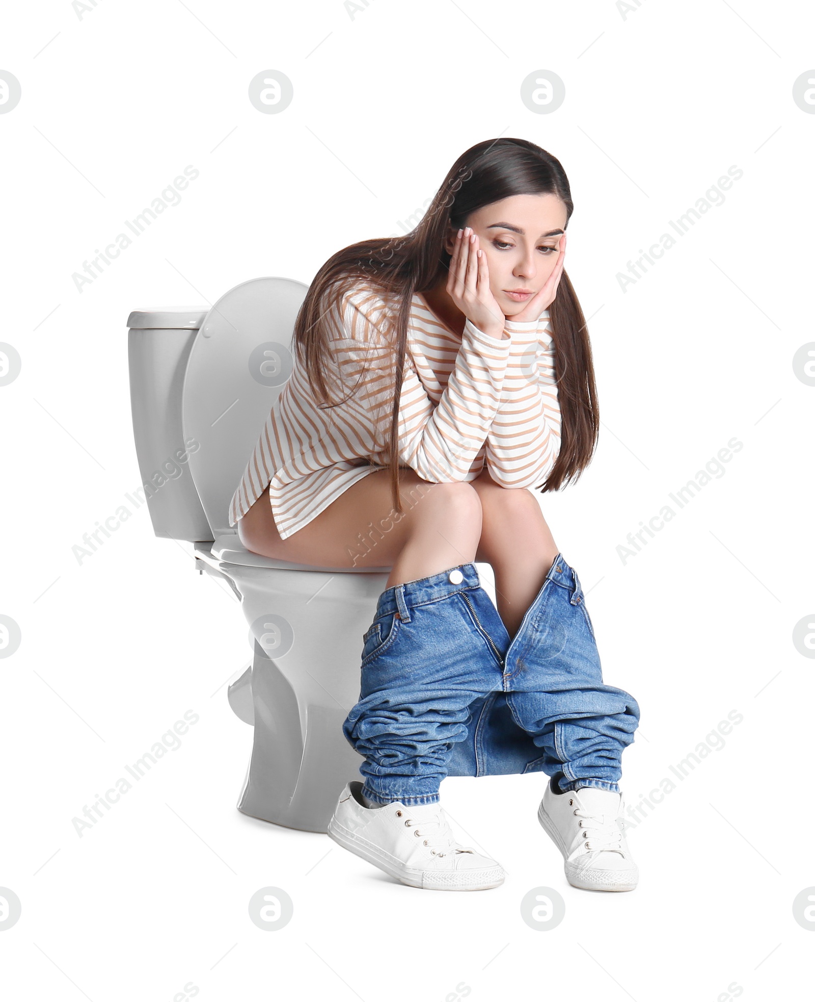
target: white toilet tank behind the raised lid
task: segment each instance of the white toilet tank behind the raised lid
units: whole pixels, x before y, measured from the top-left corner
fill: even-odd
[[[184,438],[181,398],[189,353],[208,311],[145,309],[127,318],[133,436],[153,530],[193,543],[214,536],[189,467],[200,443]]]

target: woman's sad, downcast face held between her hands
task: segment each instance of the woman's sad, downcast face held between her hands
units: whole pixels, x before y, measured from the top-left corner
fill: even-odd
[[[515,194],[468,216],[466,225],[478,234],[487,256],[490,291],[505,317],[521,313],[546,285],[566,221],[566,205],[556,194]],[[455,235],[445,244],[450,254]]]

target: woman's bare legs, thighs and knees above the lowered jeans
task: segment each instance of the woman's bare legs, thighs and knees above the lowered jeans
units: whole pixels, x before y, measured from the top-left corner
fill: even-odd
[[[316,518],[280,539],[268,488],[237,523],[253,553],[336,567],[390,565],[387,587],[461,563],[489,563],[499,613],[514,636],[558,547],[532,491],[497,484],[487,467],[470,483],[434,484],[414,470],[399,476],[401,515],[384,470],[352,484]]]

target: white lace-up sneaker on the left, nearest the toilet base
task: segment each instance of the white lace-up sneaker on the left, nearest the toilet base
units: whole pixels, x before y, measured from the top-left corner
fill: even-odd
[[[411,887],[436,891],[483,891],[504,883],[504,869],[460,845],[444,808],[405,807],[400,801],[366,808],[362,784],[353,780],[339,795],[328,835],[356,856]]]

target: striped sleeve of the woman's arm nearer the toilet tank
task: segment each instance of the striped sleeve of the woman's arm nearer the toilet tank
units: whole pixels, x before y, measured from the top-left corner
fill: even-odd
[[[334,342],[342,381],[357,382],[353,403],[370,425],[371,452],[379,452],[389,433],[395,358],[385,331],[389,317],[375,295],[355,294],[346,300],[346,338]],[[465,324],[456,365],[438,405],[405,355],[399,399],[399,462],[425,480],[451,483],[468,479],[499,410],[505,371],[513,342]],[[362,372],[365,376],[360,379]]]

